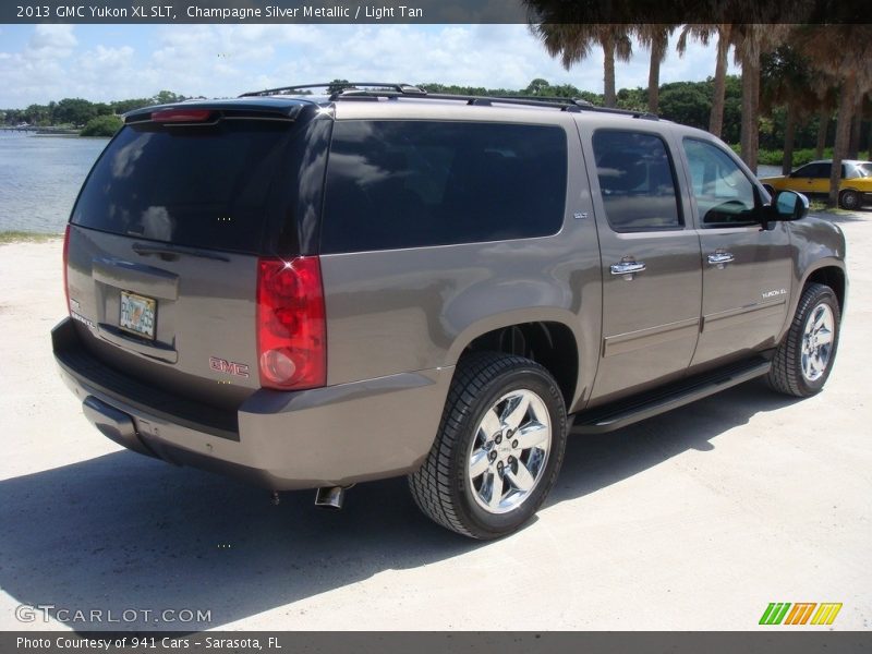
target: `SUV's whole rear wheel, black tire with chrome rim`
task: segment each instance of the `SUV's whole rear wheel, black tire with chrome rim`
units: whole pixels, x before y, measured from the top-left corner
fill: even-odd
[[[517,531],[545,500],[564,459],[564,398],[544,367],[474,352],[458,364],[439,433],[409,475],[432,520],[480,540]]]

